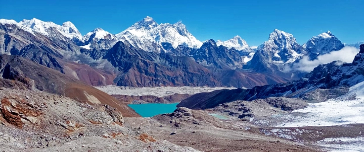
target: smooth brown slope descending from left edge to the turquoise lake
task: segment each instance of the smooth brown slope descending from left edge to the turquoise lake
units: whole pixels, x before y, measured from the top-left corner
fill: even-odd
[[[130,107],[119,103],[110,95],[83,84],[79,80],[37,64],[33,61],[14,55],[0,56],[2,83],[0,87],[14,89],[34,89],[70,97],[88,104],[108,104],[117,108],[127,117],[138,117]]]

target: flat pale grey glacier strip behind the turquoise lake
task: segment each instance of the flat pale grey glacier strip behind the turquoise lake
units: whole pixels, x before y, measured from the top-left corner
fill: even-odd
[[[226,88],[226,87],[120,87],[115,85],[95,87],[109,95],[128,95],[128,96],[157,96],[157,97],[165,97],[174,94],[198,94],[202,92],[212,92],[215,90],[222,89],[236,89],[234,87]]]

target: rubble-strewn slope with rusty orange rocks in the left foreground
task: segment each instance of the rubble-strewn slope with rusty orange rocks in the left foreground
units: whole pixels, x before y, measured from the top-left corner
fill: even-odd
[[[108,105],[5,88],[0,101],[2,151],[197,151],[155,139]]]

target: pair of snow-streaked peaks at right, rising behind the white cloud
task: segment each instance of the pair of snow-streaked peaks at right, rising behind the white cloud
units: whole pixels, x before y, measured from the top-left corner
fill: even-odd
[[[298,79],[305,73],[297,71],[293,67],[295,63],[304,57],[314,60],[319,55],[341,50],[344,46],[330,31],[313,36],[301,46],[292,34],[275,29],[243,68]]]

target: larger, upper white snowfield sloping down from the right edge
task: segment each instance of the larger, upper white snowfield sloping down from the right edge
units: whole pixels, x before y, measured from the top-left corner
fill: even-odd
[[[356,99],[354,99],[356,97]],[[282,116],[278,127],[334,126],[364,123],[364,82],[350,87],[347,95],[326,102],[309,104]]]

